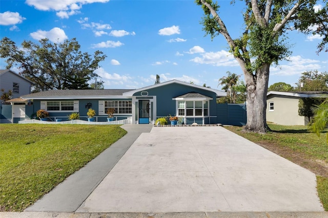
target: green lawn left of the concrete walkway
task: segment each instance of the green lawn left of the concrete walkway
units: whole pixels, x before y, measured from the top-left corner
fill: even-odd
[[[0,211],[22,211],[126,134],[119,125],[0,124]]]

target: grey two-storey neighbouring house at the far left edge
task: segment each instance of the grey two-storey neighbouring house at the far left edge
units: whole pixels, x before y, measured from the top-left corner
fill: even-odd
[[[11,70],[0,70],[0,90],[4,89],[5,92],[12,91],[10,102],[12,105],[11,112],[9,108],[0,103],[0,122],[1,123],[13,123],[14,120],[25,119],[25,105],[28,103],[26,100],[22,100],[19,97],[22,95],[28,95],[31,93],[32,82]],[[2,94],[2,92],[1,92]],[[10,116],[11,114],[11,116]]]

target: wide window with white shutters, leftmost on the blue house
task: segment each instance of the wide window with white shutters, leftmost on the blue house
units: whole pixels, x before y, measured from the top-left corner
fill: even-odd
[[[49,112],[78,112],[78,101],[41,101],[40,105]]]

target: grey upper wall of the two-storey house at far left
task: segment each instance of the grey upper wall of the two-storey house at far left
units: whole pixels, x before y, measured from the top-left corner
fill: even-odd
[[[5,92],[8,92],[9,90],[13,91],[14,82],[19,84],[19,93],[13,93],[12,98],[19,98],[22,95],[31,93],[31,83],[11,72],[6,72],[1,75],[0,89],[5,89]]]

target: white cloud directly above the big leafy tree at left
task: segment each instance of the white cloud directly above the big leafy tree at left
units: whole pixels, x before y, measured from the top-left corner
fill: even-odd
[[[58,27],[55,27],[50,31],[38,30],[36,32],[30,33],[30,35],[36,40],[48,38],[52,42],[63,42],[65,39],[68,39],[64,30]]]

